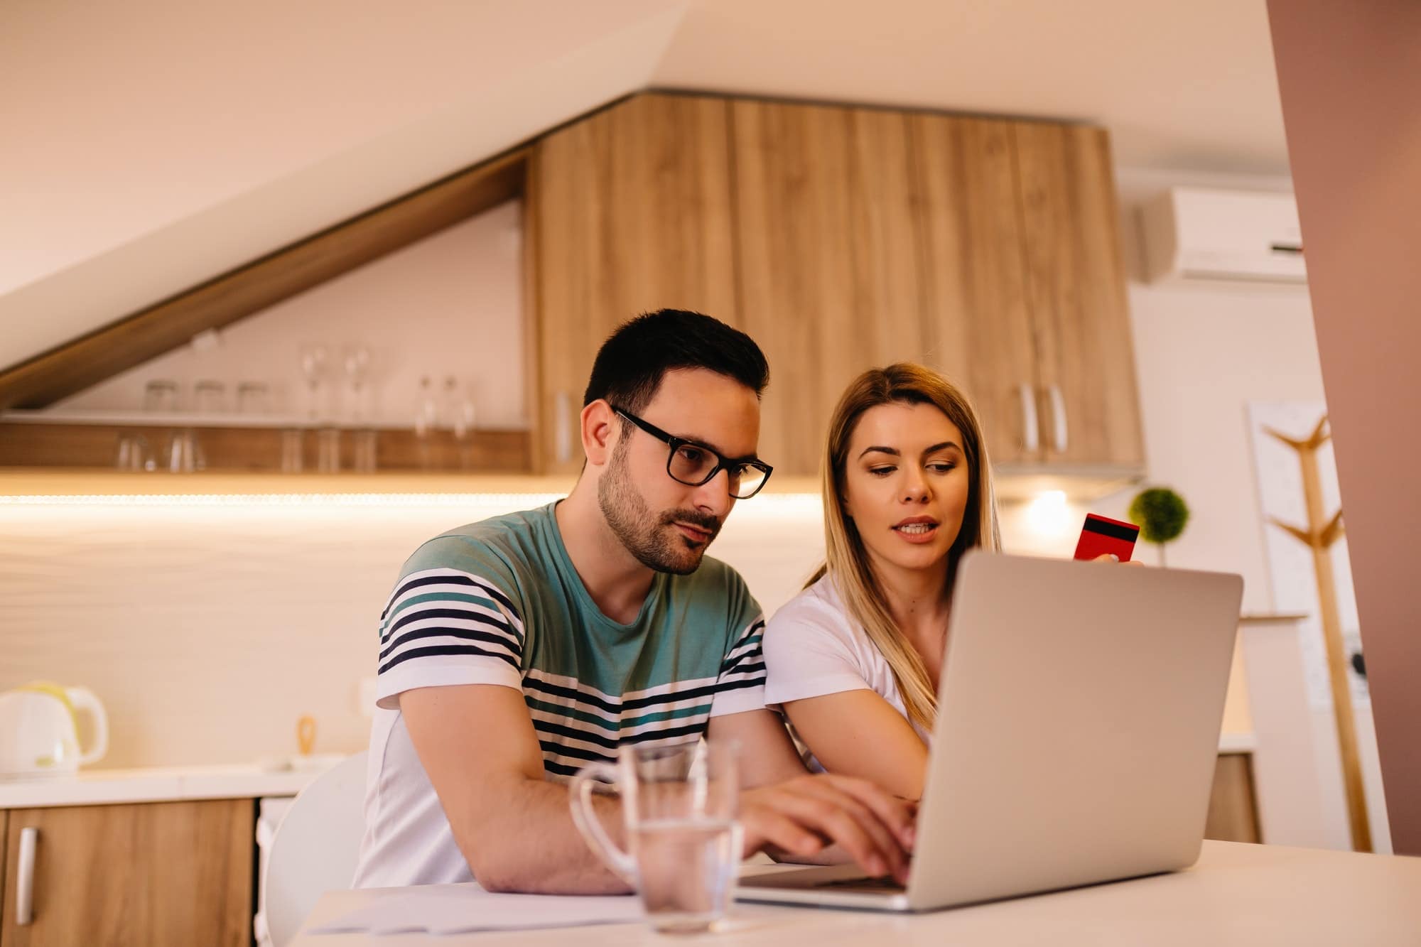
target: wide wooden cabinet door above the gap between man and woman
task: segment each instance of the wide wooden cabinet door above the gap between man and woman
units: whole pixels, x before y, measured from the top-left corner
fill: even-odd
[[[760,456],[811,475],[853,377],[929,348],[908,119],[743,100],[730,119],[740,311],[770,363]]]

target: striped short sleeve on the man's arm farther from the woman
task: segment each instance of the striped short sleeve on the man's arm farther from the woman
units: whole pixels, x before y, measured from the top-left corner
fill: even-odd
[[[416,687],[523,688],[524,628],[507,565],[477,540],[441,536],[405,563],[379,617],[377,704]]]

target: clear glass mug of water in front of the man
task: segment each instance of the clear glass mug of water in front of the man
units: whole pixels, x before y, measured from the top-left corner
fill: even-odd
[[[617,762],[594,762],[573,776],[573,822],[587,845],[641,894],[647,920],[662,933],[710,930],[725,917],[740,866],[739,744],[622,747]],[[620,849],[593,810],[591,793],[615,785],[628,849]]]

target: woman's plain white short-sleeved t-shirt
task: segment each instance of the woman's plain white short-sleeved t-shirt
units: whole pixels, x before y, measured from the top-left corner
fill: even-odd
[[[780,606],[764,627],[762,647],[767,707],[779,710],[790,701],[843,691],[874,691],[908,719],[888,660],[848,616],[828,576]],[[914,731],[929,741],[917,724]],[[806,762],[817,772],[824,769],[813,755]]]

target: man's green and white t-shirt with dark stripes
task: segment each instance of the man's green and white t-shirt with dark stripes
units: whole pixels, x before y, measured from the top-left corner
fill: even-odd
[[[688,576],[657,573],[637,619],[612,621],[553,508],[462,526],[405,563],[379,620],[357,887],[472,877],[401,721],[406,690],[519,690],[560,782],[620,745],[695,742],[712,717],[764,707],[764,621],[733,569],[706,557]]]

